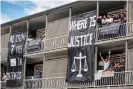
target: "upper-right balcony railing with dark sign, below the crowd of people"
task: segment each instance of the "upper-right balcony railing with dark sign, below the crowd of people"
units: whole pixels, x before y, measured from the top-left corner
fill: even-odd
[[[96,41],[117,39],[133,35],[133,23],[114,23],[96,30]]]

